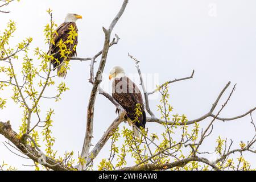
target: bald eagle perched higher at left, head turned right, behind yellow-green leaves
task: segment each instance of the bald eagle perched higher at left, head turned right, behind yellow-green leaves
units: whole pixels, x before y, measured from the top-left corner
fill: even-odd
[[[76,20],[81,19],[82,16],[77,14],[67,14],[65,22],[62,23],[53,33],[53,44],[50,46],[48,55],[52,55],[53,59],[51,63],[53,65],[53,70],[57,68],[57,75],[59,77],[65,77],[67,72],[65,70],[64,61],[67,57],[76,56],[76,46],[77,46],[77,36],[72,38],[72,41],[68,41],[70,32],[72,30],[77,33]],[[60,43],[64,43],[67,46],[67,51],[65,53],[61,52]]]

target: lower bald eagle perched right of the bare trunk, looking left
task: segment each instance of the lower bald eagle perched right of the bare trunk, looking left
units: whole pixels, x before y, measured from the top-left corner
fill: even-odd
[[[121,67],[114,67],[110,71],[109,80],[112,82],[113,98],[126,110],[126,120],[130,126],[133,126],[133,131],[136,137],[139,137],[139,128],[145,128],[146,113],[142,94],[137,85],[134,84],[128,77],[125,76],[125,71]],[[139,107],[141,114],[135,113]],[[118,111],[118,110],[117,110]]]

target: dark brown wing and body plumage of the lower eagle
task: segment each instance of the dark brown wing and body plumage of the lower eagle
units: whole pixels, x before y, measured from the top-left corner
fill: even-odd
[[[137,127],[145,127],[146,113],[144,111],[142,94],[133,81],[128,77],[115,78],[112,85],[112,96],[126,110],[127,117],[131,121],[135,120],[135,108],[137,104],[140,104],[142,115],[138,117],[139,122],[135,122],[135,125]]]

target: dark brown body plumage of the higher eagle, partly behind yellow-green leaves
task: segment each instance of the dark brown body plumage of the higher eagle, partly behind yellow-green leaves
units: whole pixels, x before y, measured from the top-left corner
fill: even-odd
[[[75,22],[69,22],[69,23],[62,23],[53,33],[53,42],[54,44],[51,45],[51,50],[48,51],[48,54],[51,53],[51,55],[53,55],[54,60],[52,60],[52,64],[53,64],[53,69],[55,69],[58,65],[60,65],[63,61],[64,61],[64,57],[62,57],[60,55],[60,48],[59,48],[59,41],[63,40],[63,42],[67,41],[68,36],[69,36],[69,28],[73,26],[75,27],[76,31],[77,30],[77,26]],[[73,50],[73,48],[77,45],[78,40],[77,40],[77,36],[75,38],[75,40],[73,41],[73,43],[67,43],[67,48],[70,49],[71,53],[69,53],[69,55],[65,55],[68,57],[73,57],[76,55],[76,48],[75,50]]]

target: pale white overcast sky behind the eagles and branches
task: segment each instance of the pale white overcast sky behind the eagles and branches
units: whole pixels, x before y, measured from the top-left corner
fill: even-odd
[[[40,47],[47,51],[44,44],[43,29],[48,22],[46,10],[53,10],[57,24],[63,23],[67,13],[82,15],[77,21],[79,45],[77,56],[91,57],[102,49],[104,33],[102,26],[108,27],[119,7],[121,0],[84,0],[84,1],[32,1],[22,0],[8,6],[10,14],[0,14],[0,30],[5,28],[9,19],[17,23],[17,31],[11,41],[15,45],[23,38],[31,36],[34,40],[31,49]],[[125,13],[113,30],[121,40],[110,48],[105,67],[104,88],[110,92],[108,73],[114,65],[123,67],[128,75],[139,84],[137,69],[127,56],[141,60],[140,67],[148,79],[147,89],[155,84],[190,76],[192,80],[170,85],[170,102],[174,114],[185,114],[195,119],[207,113],[221,89],[228,83],[236,92],[222,111],[221,117],[233,117],[245,113],[256,106],[256,1],[254,0],[130,0]],[[32,55],[32,53],[31,53]],[[97,68],[98,63],[96,64]],[[136,77],[137,76],[137,77]],[[151,80],[154,78],[154,80]],[[92,85],[88,82],[89,62],[72,61],[65,82],[70,88],[60,102],[42,102],[42,111],[49,107],[55,109],[53,136],[56,138],[54,149],[61,155],[65,151],[81,151],[85,135],[86,107]],[[55,78],[56,82],[62,78]],[[54,89],[48,90],[51,95]],[[221,100],[225,101],[229,93]],[[0,92],[1,97],[9,97],[10,92]],[[151,109],[159,116],[156,105],[159,96],[151,96]],[[94,138],[96,144],[101,135],[116,117],[115,108],[104,96],[97,96],[94,115]],[[253,117],[255,118],[255,113]],[[15,131],[21,124],[22,112],[8,100],[7,108],[0,110],[0,120],[10,120]],[[201,122],[204,127],[209,119]],[[122,124],[122,126],[125,124]],[[150,132],[160,131],[156,123],[147,123]],[[237,121],[216,122],[213,134],[203,144],[202,149],[213,151],[216,138],[232,138],[237,144],[247,142],[254,135],[247,116]],[[6,163],[18,169],[34,169],[22,164],[32,164],[31,160],[11,154],[0,136],[0,163]],[[108,145],[100,152],[97,164],[109,152]],[[256,155],[246,155],[256,167]],[[129,162],[133,164],[133,162]]]

